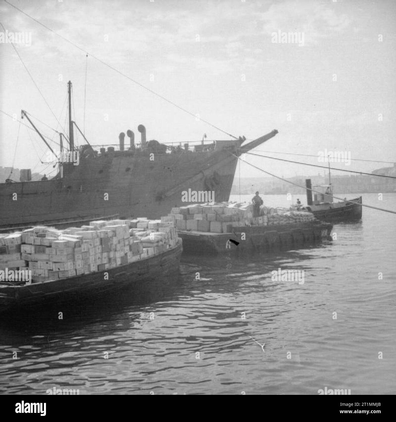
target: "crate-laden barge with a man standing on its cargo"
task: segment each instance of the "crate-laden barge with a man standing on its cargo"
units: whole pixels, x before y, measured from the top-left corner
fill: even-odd
[[[271,253],[299,249],[330,239],[332,224],[306,211],[260,207],[254,216],[249,203],[213,203],[174,207],[169,218],[176,222],[186,253]]]

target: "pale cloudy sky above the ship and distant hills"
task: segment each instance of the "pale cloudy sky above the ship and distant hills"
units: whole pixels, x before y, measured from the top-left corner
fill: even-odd
[[[203,133],[208,139],[229,137],[90,54],[228,133],[254,139],[277,129],[278,135],[258,151],[317,157],[327,149],[350,151],[352,159],[395,160],[393,0],[10,3],[83,50],[7,3],[0,4],[5,30],[31,32],[30,46],[15,47],[62,125],[66,109],[62,115],[61,111],[71,80],[75,120],[84,127],[84,51],[88,52],[85,133],[92,144],[117,143],[118,134],[128,129],[134,130],[139,141],[139,124],[146,126],[147,139],[163,142],[195,141]],[[278,31],[299,32],[303,45],[273,42],[273,32]],[[0,32],[4,32],[2,27]],[[0,43],[0,55],[1,110],[19,118],[24,109],[56,128],[56,119],[12,45]],[[35,122],[45,135],[54,136]],[[16,148],[19,123],[0,113],[0,125],[0,165],[11,166],[15,154],[15,167],[44,172],[46,165],[37,165],[37,154],[45,159],[43,141],[21,126]],[[54,139],[58,141],[57,135]],[[81,137],[78,143],[83,143]],[[314,157],[276,156],[319,164]],[[249,155],[244,158],[278,176],[319,171]],[[370,172],[386,164],[334,166]],[[245,164],[241,175],[266,176]]]

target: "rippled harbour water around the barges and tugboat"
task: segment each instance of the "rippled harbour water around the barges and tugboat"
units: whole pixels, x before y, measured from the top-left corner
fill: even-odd
[[[396,210],[396,194],[363,203]],[[0,393],[394,394],[396,216],[363,208],[333,233],[271,256],[182,257],[144,291],[1,316]],[[273,281],[278,268],[304,284]]]

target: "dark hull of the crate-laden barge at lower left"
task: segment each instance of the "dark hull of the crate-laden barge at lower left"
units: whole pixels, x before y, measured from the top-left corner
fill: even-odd
[[[158,277],[178,271],[182,241],[162,254],[106,270],[67,279],[43,281],[29,285],[0,285],[0,312],[26,306],[37,306],[73,300],[82,301],[93,296],[108,295],[128,287],[137,287]]]

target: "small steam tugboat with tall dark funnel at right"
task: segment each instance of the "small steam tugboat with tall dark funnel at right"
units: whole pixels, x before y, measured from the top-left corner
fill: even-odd
[[[331,183],[329,166],[329,184],[314,186],[315,193],[312,200],[311,179],[305,180],[307,189],[307,206],[298,207],[303,211],[310,211],[313,215],[324,222],[344,222],[361,219],[361,196],[339,202],[333,202],[333,186]]]

